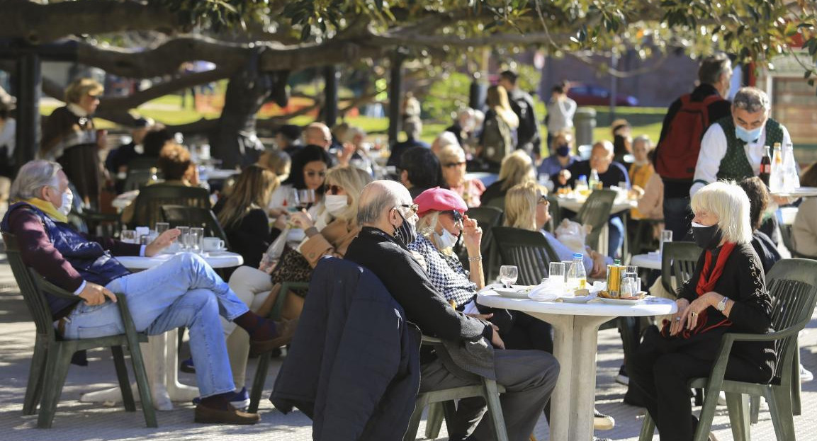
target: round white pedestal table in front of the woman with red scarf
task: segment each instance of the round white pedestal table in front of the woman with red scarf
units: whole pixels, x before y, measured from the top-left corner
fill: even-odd
[[[551,434],[548,439],[591,441],[593,403],[596,400],[596,351],[602,323],[618,317],[674,314],[675,302],[650,297],[635,305],[533,301],[498,295],[485,290],[480,305],[523,311],[553,327],[553,355],[561,365],[551,395]]]

